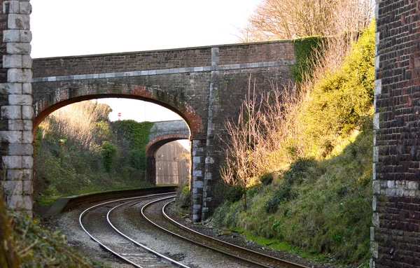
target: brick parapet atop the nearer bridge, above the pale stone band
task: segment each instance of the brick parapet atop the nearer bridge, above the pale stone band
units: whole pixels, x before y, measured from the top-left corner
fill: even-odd
[[[218,65],[294,61],[291,41],[220,45]],[[214,66],[212,47],[34,59],[34,78]],[[214,57],[213,57],[214,59]],[[187,70],[188,71],[188,70]]]

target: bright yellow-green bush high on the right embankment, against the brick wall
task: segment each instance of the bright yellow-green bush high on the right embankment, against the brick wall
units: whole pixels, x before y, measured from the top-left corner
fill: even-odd
[[[370,113],[374,85],[374,23],[360,36],[341,68],[325,73],[300,114],[307,154],[329,155],[335,141]]]

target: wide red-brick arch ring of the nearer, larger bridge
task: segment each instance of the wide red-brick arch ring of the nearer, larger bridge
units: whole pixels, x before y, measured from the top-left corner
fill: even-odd
[[[87,83],[81,86],[74,85],[57,88],[48,97],[36,99],[34,102],[33,131],[36,131],[36,127],[47,115],[59,108],[78,101],[103,98],[139,99],[158,104],[177,113],[186,121],[186,125],[190,129],[191,139],[204,134],[200,115],[180,97],[159,88],[125,83]]]

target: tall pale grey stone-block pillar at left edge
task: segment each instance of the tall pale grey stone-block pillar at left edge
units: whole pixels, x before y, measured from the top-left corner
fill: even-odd
[[[0,183],[8,206],[32,211],[32,60],[29,0],[1,1]]]

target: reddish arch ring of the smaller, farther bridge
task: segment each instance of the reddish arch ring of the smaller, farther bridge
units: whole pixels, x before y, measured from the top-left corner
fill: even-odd
[[[156,184],[156,153],[159,148],[171,141],[189,139],[188,134],[165,134],[158,136],[146,145],[146,181]]]

